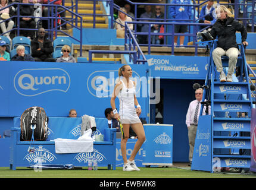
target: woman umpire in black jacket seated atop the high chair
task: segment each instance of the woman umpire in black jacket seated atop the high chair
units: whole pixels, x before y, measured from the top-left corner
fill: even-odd
[[[213,25],[210,34],[214,39],[218,39],[217,47],[213,50],[213,61],[217,71],[220,73],[220,82],[233,82],[232,75],[235,71],[236,62],[238,61],[239,49],[236,43],[236,31],[241,32],[241,42],[248,46],[246,42],[247,30],[242,23],[233,18],[232,13],[224,5],[216,10],[217,21]],[[229,57],[229,71],[227,76],[223,71],[221,56]]]

